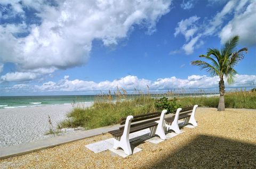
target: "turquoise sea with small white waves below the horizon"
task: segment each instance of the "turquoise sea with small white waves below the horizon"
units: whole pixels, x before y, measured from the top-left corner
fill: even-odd
[[[179,94],[178,97],[186,96],[214,96],[215,94]],[[94,97],[98,95],[81,95],[81,96],[2,96],[0,97],[0,108],[17,108],[17,107],[34,107],[46,105],[60,105],[71,103],[92,103]],[[129,95],[138,97],[139,95]],[[128,98],[131,98],[128,97]],[[157,97],[152,95],[152,97]],[[114,97],[115,100],[115,97]]]

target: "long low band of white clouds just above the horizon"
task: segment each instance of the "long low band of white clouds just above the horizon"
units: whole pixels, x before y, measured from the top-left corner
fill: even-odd
[[[5,91],[30,90],[35,92],[72,92],[72,91],[99,91],[116,90],[117,86],[125,90],[169,90],[169,89],[216,89],[218,90],[219,77],[207,77],[206,75],[190,75],[187,79],[176,77],[159,78],[155,81],[147,79],[139,79],[136,76],[128,75],[121,79],[113,81],[101,81],[99,83],[84,80],[69,80],[69,76],[65,75],[58,82],[45,82],[43,85],[14,85],[6,87]],[[226,88],[253,88],[256,84],[256,75],[236,75],[235,83],[227,85]]]

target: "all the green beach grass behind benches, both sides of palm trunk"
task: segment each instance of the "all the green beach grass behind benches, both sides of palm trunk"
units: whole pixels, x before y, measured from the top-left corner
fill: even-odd
[[[177,108],[177,106],[194,106],[195,104],[217,108],[219,103],[219,97],[217,96],[177,97],[177,95],[175,95],[176,98],[173,99],[174,95],[171,92],[159,94],[155,98],[153,98],[149,92],[144,94],[138,91],[138,94],[139,95],[135,96],[127,95],[127,92],[123,89],[121,91],[117,89],[114,93],[109,91],[108,94],[101,94],[95,98],[92,107],[84,108],[84,106],[74,106],[73,110],[67,114],[68,119],[58,124],[58,129],[82,126],[85,130],[89,130],[118,124],[122,117],[128,115],[161,111],[161,108],[165,108],[164,106],[159,107],[159,97],[162,96],[169,98],[167,106],[170,104],[175,108]],[[163,103],[162,105],[165,104],[166,103]],[[225,95],[225,105],[226,108],[256,109],[256,92],[246,90],[227,92]]]

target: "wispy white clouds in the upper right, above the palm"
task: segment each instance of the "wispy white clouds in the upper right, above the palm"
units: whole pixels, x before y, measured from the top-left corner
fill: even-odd
[[[210,3],[212,2],[210,1]],[[194,53],[195,48],[202,46],[203,38],[208,36],[218,35],[221,43],[225,43],[230,37],[239,35],[242,45],[256,44],[256,1],[254,0],[227,2],[212,19],[201,23],[201,27],[197,26],[199,19],[197,16],[182,19],[175,28],[174,37],[181,33],[186,39],[182,49],[187,55]],[[225,21],[227,24],[224,24]]]

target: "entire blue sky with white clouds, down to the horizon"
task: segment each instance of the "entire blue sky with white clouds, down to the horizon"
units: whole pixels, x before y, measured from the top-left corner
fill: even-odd
[[[0,96],[218,91],[190,63],[235,35],[248,52],[226,88],[254,88],[254,0],[0,0]]]

